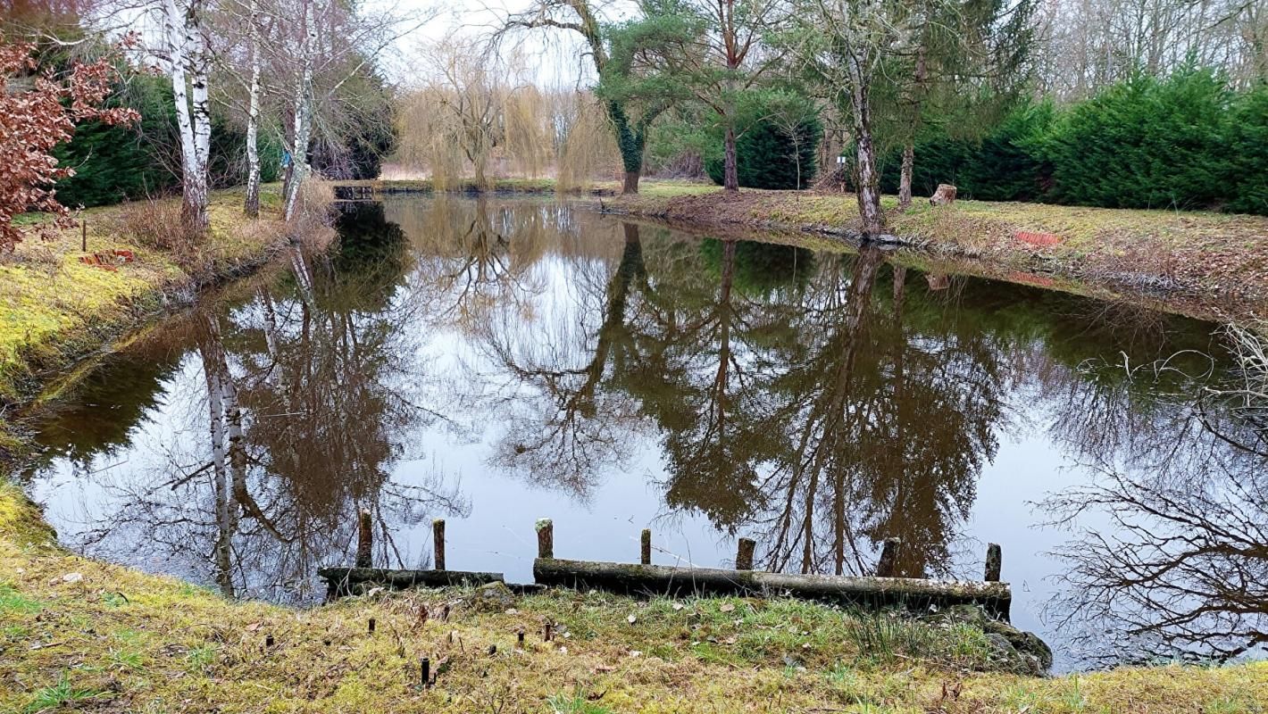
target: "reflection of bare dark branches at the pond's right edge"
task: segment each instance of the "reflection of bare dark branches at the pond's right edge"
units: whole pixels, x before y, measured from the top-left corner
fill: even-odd
[[[1101,408],[1064,420],[1101,477],[1045,506],[1060,523],[1110,524],[1059,553],[1069,569],[1051,611],[1088,658],[1227,659],[1268,643],[1262,364],[1236,383],[1192,358],[1130,374],[1087,365]]]

